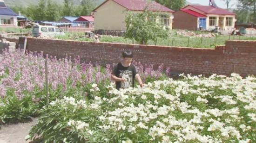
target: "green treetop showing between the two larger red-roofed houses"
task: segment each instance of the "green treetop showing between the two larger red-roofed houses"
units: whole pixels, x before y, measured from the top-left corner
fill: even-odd
[[[155,0],[155,1],[174,11],[178,11],[180,8],[186,5],[186,0]]]

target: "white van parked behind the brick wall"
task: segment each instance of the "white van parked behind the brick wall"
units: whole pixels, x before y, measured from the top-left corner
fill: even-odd
[[[37,25],[33,26],[32,35],[33,37],[54,37],[56,35],[65,35],[65,33],[56,26]]]

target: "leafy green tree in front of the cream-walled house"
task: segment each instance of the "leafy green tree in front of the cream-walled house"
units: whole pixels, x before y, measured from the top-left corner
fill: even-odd
[[[163,25],[156,22],[160,13],[156,12],[129,12],[126,15],[126,38],[135,39],[140,44],[147,44],[148,40],[156,41],[157,37],[167,38],[168,31]]]

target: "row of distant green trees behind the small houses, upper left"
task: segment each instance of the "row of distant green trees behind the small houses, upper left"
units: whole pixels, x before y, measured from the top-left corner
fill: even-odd
[[[74,0],[63,0],[63,4],[54,0],[39,0],[37,5],[27,7],[15,5],[11,6],[11,9],[16,13],[20,12],[28,19],[57,21],[64,16],[90,15],[95,6],[94,0],[82,0],[77,5],[74,4]]]

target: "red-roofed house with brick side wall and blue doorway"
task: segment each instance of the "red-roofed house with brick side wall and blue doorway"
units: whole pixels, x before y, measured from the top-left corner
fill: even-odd
[[[174,12],[174,29],[222,30],[235,27],[236,14],[215,6],[188,5]]]

